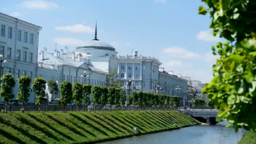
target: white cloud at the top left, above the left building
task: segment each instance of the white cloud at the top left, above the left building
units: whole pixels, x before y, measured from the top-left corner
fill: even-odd
[[[51,3],[43,0],[26,0],[23,3],[21,3],[21,6],[28,9],[43,9],[43,10],[59,7],[56,3]]]

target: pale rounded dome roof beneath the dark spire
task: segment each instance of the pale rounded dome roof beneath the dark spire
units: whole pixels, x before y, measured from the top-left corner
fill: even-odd
[[[96,49],[115,51],[115,48],[112,45],[109,45],[108,43],[102,42],[100,40],[87,41],[84,43],[83,46],[77,47],[77,49],[80,49],[80,48],[96,48]]]

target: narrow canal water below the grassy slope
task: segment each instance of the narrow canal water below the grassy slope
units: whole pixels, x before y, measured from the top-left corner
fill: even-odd
[[[196,125],[101,144],[236,144],[245,130],[236,133],[233,128],[226,128],[226,125],[227,122],[220,122],[216,125]]]

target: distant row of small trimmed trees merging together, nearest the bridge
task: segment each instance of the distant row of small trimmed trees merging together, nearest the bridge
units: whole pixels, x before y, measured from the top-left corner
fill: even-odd
[[[180,99],[179,96],[133,91],[131,95],[127,96],[127,104],[139,107],[179,107]]]

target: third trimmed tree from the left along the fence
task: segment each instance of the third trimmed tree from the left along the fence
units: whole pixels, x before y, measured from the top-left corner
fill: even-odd
[[[33,80],[32,88],[35,92],[36,101],[35,104],[41,105],[43,101],[45,100],[45,85],[46,81],[43,79],[43,77],[36,77]],[[48,100],[47,100],[48,102]],[[38,109],[38,112],[40,112],[40,106]]]

